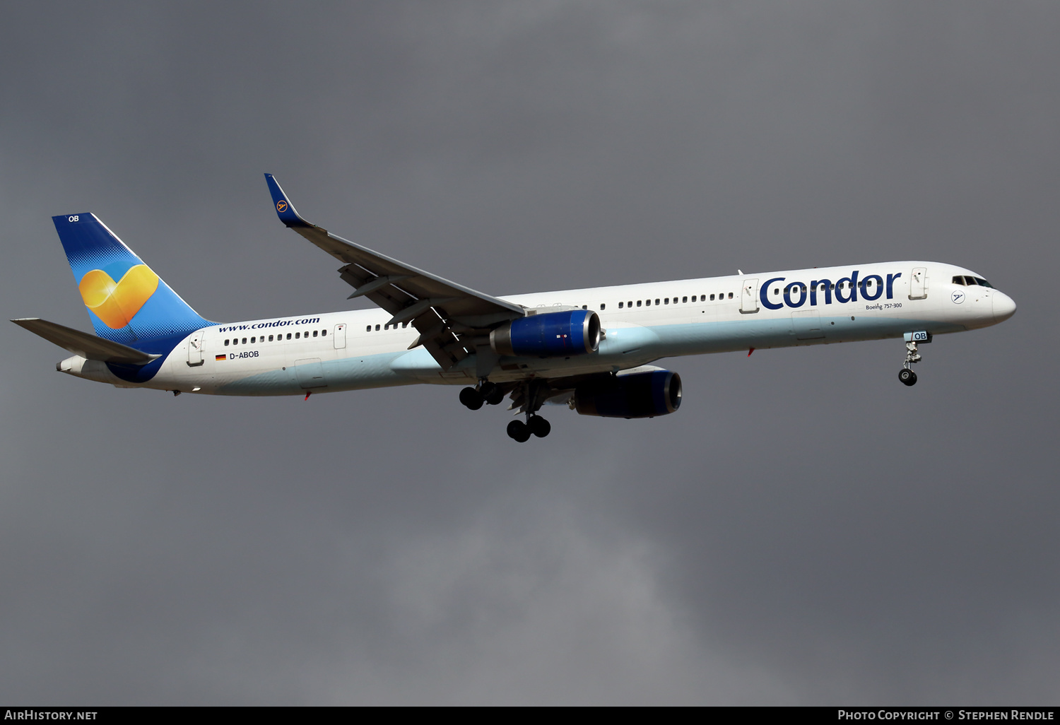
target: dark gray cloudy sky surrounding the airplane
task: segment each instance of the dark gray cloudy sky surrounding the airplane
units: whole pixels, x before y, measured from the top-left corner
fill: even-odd
[[[926,259],[1014,318],[674,359],[678,413],[249,400],[0,348],[0,700],[1056,704],[1060,5],[8,3],[6,317],[93,211],[198,312],[342,308],[270,210],[493,294]]]

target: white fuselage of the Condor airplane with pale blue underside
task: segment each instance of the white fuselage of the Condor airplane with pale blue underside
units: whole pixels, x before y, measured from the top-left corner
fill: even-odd
[[[851,289],[855,271],[859,286]],[[531,311],[595,311],[605,335],[595,353],[500,357],[489,378],[564,377],[678,355],[894,338],[914,331],[937,335],[1012,315],[1015,305],[1004,293],[951,282],[964,275],[973,272],[936,262],[886,262],[509,296],[502,299]],[[867,279],[871,283],[863,286]],[[418,335],[411,325],[385,329],[389,319],[383,310],[356,310],[210,325],[184,338],[158,373],[140,384],[78,356],[59,369],[122,387],[222,395],[476,382],[474,355],[443,372],[424,348],[408,349]]]

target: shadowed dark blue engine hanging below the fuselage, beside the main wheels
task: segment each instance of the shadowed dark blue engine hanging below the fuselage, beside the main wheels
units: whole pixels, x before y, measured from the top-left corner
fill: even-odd
[[[681,375],[669,370],[617,375],[575,390],[575,409],[601,418],[655,418],[681,407]]]

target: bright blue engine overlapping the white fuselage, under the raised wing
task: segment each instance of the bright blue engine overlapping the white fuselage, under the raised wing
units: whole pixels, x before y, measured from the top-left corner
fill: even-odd
[[[584,355],[600,347],[600,318],[591,310],[522,317],[491,332],[490,347],[518,357]]]

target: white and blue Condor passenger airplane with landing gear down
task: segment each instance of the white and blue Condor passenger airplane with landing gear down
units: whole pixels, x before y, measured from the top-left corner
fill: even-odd
[[[920,261],[493,297],[306,222],[272,175],[265,180],[280,222],[341,263],[348,299],[376,310],[211,322],[85,213],[52,220],[95,335],[12,321],[73,353],[59,372],[120,388],[308,400],[461,385],[472,410],[508,396],[508,436],[524,443],[549,434],[546,403],[603,418],[676,412],[681,376],[653,365],[662,358],[901,338],[899,379],[912,386],[920,344],[1015,313],[980,275]]]

